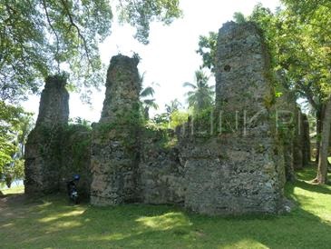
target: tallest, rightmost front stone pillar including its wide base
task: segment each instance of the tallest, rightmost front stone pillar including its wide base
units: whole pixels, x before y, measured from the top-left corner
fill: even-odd
[[[230,22],[220,28],[216,66],[220,130],[217,138],[182,147],[188,208],[205,214],[277,213],[281,208],[284,158],[272,118],[268,62],[256,25]]]

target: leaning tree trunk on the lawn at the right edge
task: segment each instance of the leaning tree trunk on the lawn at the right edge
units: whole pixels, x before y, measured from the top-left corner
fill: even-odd
[[[328,99],[322,125],[322,135],[319,150],[318,169],[315,182],[318,184],[327,183],[327,155],[331,129],[331,97]]]

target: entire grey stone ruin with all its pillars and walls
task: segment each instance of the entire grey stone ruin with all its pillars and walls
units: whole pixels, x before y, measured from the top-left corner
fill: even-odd
[[[46,80],[26,144],[26,193],[62,190],[62,177],[79,171],[94,205],[180,204],[200,214],[282,211],[286,180],[310,160],[309,127],[290,93],[275,97],[256,25],[230,22],[219,29],[216,106],[208,124],[190,118],[176,131],[141,125],[138,63],[112,57],[102,117],[92,132],[63,128],[65,82]],[[77,168],[71,158],[82,134],[90,140]]]

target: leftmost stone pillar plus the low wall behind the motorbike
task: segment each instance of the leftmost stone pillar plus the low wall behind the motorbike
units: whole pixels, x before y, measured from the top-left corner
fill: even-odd
[[[91,132],[84,127],[68,129],[69,94],[65,85],[64,75],[45,80],[39,115],[25,144],[26,194],[64,192],[65,181],[74,173],[83,176],[80,193],[90,193]]]

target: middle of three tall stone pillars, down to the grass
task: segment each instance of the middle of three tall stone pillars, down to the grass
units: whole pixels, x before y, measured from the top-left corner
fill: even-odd
[[[92,131],[91,203],[122,204],[138,196],[139,60],[112,57],[102,117]]]

